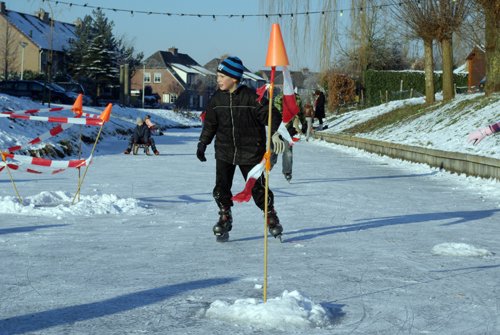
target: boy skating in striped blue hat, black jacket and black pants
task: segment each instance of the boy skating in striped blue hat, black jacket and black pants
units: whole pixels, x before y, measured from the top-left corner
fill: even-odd
[[[245,67],[238,57],[227,57],[219,64],[218,89],[208,103],[196,151],[198,159],[206,161],[205,150],[215,138],[215,187],[212,194],[219,207],[219,221],[213,227],[213,232],[218,241],[226,241],[232,229],[231,187],[236,167],[246,179],[248,172],[260,163],[266,152],[268,101],[264,99],[258,102],[255,90],[240,85],[244,71]],[[274,148],[284,148],[276,132],[281,115],[276,108],[272,108],[271,113]],[[261,210],[264,210],[267,201],[269,232],[274,237],[280,236],[283,227],[274,209],[271,190],[268,190],[268,198],[265,199],[263,175],[253,186],[252,197]]]

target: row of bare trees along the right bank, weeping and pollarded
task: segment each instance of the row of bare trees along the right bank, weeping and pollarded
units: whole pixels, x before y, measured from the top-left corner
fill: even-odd
[[[262,4],[265,11],[280,13],[317,9],[313,8],[317,1],[310,0],[269,0]],[[479,44],[486,50],[485,91],[500,91],[500,0],[351,0],[350,26],[341,17],[345,9],[345,2],[323,1],[316,30],[309,15],[304,19],[286,18],[282,23],[294,37],[293,44],[302,45],[302,50],[306,41],[320,43],[317,56],[324,70],[347,73],[362,85],[368,69],[409,68],[414,61],[407,57],[408,52],[422,41],[424,50],[417,47],[415,53],[424,58],[428,103],[435,99],[435,50],[441,54],[443,96],[449,100],[454,95],[453,41],[460,42],[457,45],[462,48],[467,45],[467,52]],[[298,29],[299,25],[303,29]],[[463,61],[462,53],[460,63]]]

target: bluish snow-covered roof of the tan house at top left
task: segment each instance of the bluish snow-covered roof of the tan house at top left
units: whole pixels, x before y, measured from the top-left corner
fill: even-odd
[[[60,21],[44,22],[37,16],[6,11],[7,20],[40,49],[64,51],[70,39],[76,38],[75,25]]]

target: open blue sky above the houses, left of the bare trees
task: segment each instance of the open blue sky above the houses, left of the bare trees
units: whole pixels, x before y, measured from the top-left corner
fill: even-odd
[[[137,51],[148,57],[158,50],[176,47],[187,53],[198,63],[204,65],[211,59],[224,54],[238,56],[252,71],[264,69],[267,44],[272,23],[271,19],[260,17],[241,18],[241,14],[261,14],[259,0],[64,0],[66,3],[88,4],[108,8],[135,11],[171,12],[186,14],[239,14],[238,17],[181,17],[166,15],[147,15],[105,11],[114,22],[116,36],[124,36]],[[74,22],[76,18],[92,13],[92,9],[55,1],[6,0],[7,9],[34,14],[43,8],[53,13],[58,21]],[[292,52],[288,41],[289,33],[282,28],[292,69],[309,67],[318,70],[318,56],[306,52],[301,55]],[[300,49],[300,48],[299,48]],[[310,49],[310,48],[309,48]]]

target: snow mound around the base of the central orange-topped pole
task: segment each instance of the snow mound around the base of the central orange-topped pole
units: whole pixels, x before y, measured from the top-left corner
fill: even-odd
[[[257,299],[238,299],[234,304],[214,301],[206,317],[259,330],[328,328],[332,316],[321,305],[314,304],[298,291],[284,291],[281,297],[263,303]]]

